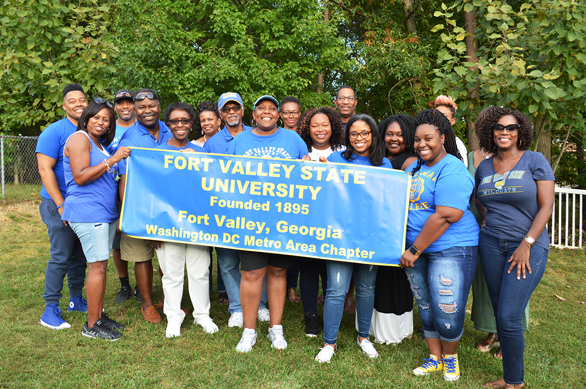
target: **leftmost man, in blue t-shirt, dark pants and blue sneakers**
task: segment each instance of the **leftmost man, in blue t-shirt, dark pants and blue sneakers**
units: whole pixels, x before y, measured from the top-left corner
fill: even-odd
[[[70,328],[59,308],[63,279],[67,274],[69,307],[67,311],[87,311],[81,291],[86,279],[86,256],[77,235],[61,220],[67,186],[63,173],[63,147],[77,129],[81,112],[87,107],[86,94],[79,84],[63,88],[62,108],[67,116],[52,123],[39,136],[36,157],[43,181],[39,212],[49,230],[50,259],[45,272],[45,312],[40,318],[43,326],[53,329]]]

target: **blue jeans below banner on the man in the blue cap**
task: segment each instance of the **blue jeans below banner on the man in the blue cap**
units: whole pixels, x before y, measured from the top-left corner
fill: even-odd
[[[224,247],[216,247],[216,254],[220,272],[222,273],[222,280],[224,280],[224,287],[228,294],[228,312],[230,315],[234,312],[242,312],[240,306],[240,254],[238,250],[225,249]],[[267,287],[266,277],[263,281],[263,295],[261,296],[260,306],[258,309],[266,308],[267,304]]]

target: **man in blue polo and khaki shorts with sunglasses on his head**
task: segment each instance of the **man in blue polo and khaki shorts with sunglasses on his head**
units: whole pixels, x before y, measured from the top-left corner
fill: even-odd
[[[155,149],[171,139],[171,131],[159,120],[161,117],[161,105],[155,89],[137,89],[134,91],[134,112],[137,122],[126,130],[118,147],[134,146]],[[132,155],[132,154],[131,154]],[[131,157],[132,158],[132,157]],[[126,161],[118,163],[120,184],[118,190],[120,199],[124,200],[124,187],[126,185]],[[141,312],[144,319],[151,323],[161,322],[161,315],[155,308],[152,300],[152,257],[155,250],[149,240],[137,239],[122,233],[120,242],[122,261],[134,262],[134,275],[137,278],[137,299],[142,300]]]

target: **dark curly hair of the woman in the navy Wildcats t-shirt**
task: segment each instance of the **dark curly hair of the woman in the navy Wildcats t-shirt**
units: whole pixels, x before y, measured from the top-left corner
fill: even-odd
[[[492,132],[492,125],[499,121],[503,116],[513,116],[517,119],[520,127],[517,131],[517,149],[529,150],[533,142],[533,124],[526,115],[519,111],[511,111],[509,108],[495,107],[479,117],[474,132],[478,136],[478,142],[481,149],[496,154],[497,148]]]

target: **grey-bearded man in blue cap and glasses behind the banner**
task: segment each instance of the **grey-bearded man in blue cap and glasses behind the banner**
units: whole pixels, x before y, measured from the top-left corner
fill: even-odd
[[[242,98],[236,92],[226,92],[220,96],[218,99],[218,111],[226,126],[222,131],[208,139],[203,148],[208,153],[227,154],[228,146],[230,146],[232,139],[239,133],[252,128],[242,123],[244,104]],[[223,247],[216,247],[216,253],[228,300],[230,301],[228,306],[228,312],[230,312],[228,326],[241,328],[244,326],[244,318],[240,306],[240,256],[238,250],[224,249]],[[269,312],[265,305],[266,302],[267,293],[263,285],[263,297],[260,307],[258,307],[258,319],[268,322]]]

